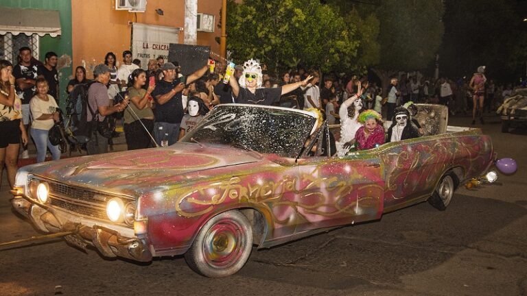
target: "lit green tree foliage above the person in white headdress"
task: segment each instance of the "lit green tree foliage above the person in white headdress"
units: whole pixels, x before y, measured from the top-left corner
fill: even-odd
[[[231,2],[227,15],[227,48],[238,63],[257,58],[275,70],[302,64],[329,71],[358,61],[356,30],[318,1]]]

